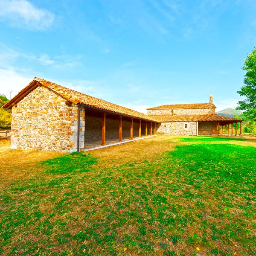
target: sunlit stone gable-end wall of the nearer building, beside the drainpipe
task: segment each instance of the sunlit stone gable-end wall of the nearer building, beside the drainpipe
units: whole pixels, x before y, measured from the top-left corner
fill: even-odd
[[[70,152],[77,148],[78,106],[47,87],[36,87],[12,108],[12,149]],[[80,148],[84,148],[84,111],[80,117]]]

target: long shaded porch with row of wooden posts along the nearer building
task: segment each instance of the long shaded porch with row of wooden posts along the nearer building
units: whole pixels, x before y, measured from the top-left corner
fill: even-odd
[[[108,145],[121,145],[137,139],[156,135],[156,121],[134,116],[120,115],[85,107],[81,113],[80,132],[84,131],[84,150]],[[80,143],[81,145],[81,143]]]

